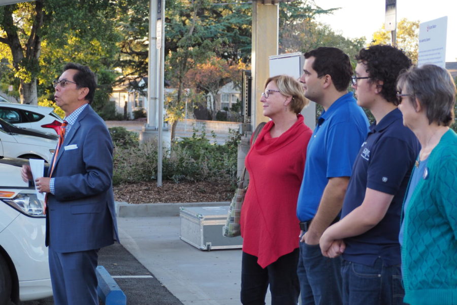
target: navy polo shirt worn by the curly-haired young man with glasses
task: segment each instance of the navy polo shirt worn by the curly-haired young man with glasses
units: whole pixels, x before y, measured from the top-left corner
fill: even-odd
[[[375,227],[344,239],[345,260],[373,265],[381,257],[385,265],[400,264],[400,215],[419,149],[415,135],[403,126],[403,116],[398,109],[385,115],[378,125],[370,126],[352,169],[341,217],[362,204],[367,188],[394,195],[394,198],[385,217]]]

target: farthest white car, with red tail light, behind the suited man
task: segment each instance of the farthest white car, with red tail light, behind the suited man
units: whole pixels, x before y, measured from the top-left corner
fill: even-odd
[[[18,127],[58,134],[63,120],[51,107],[0,102],[0,118]]]

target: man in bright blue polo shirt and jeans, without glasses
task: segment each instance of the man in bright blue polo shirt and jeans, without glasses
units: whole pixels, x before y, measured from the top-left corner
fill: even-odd
[[[364,111],[347,91],[351,75],[349,57],[340,49],[320,47],[305,53],[300,81],[305,96],[324,111],[308,144],[297,203],[303,305],[342,303],[341,262],[322,256],[319,238],[338,219],[352,164],[368,132]]]

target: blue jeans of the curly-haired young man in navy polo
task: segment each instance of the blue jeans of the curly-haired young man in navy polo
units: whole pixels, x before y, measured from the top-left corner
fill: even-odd
[[[381,258],[373,266],[343,260],[341,275],[344,304],[403,304],[405,291],[400,265],[385,266]]]

